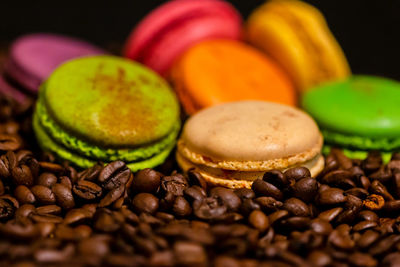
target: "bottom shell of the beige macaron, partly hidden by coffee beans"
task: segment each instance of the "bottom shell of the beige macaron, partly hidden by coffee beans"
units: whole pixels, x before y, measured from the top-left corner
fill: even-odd
[[[232,171],[207,167],[190,162],[179,152],[176,153],[176,160],[184,172],[195,168],[196,171],[201,173],[208,183],[229,188],[251,188],[253,181],[256,179],[262,179],[264,173],[268,171]],[[310,170],[312,177],[316,177],[324,168],[324,162],[324,157],[321,154],[318,154],[307,162],[289,166],[281,171],[285,171],[293,167],[303,166]]]

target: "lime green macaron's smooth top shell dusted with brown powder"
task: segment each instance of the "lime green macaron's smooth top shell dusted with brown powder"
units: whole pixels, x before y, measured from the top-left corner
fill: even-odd
[[[179,119],[168,84],[113,56],[69,61],[43,85],[48,113],[65,130],[102,147],[135,147],[165,137]]]

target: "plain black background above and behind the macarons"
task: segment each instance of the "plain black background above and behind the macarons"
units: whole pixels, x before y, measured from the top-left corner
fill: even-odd
[[[0,43],[29,32],[55,32],[118,50],[132,27],[160,0],[3,0]],[[264,0],[231,0],[244,17]],[[325,15],[354,73],[400,80],[400,1],[307,0]]]

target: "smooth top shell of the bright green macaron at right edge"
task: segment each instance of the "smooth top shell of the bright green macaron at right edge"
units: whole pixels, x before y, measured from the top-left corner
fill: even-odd
[[[353,76],[304,94],[302,106],[329,131],[369,138],[400,136],[400,83]]]

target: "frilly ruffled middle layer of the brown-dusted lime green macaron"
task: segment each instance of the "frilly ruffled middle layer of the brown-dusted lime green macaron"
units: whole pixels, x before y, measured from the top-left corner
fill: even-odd
[[[171,143],[175,143],[180,129],[180,122],[177,120],[170,133],[156,142],[134,148],[104,148],[68,134],[51,118],[41,98],[37,102],[36,113],[41,127],[48,136],[51,136],[54,142],[83,157],[104,161],[124,160],[133,162],[150,158],[170,147]]]

